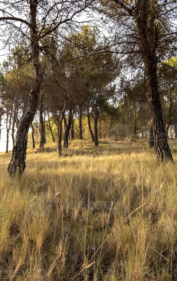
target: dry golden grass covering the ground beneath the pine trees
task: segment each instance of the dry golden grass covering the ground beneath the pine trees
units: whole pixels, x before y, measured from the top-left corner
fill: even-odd
[[[28,149],[22,177],[0,153],[2,280],[177,280],[177,141]],[[58,196],[55,197],[55,194]],[[54,198],[55,197],[55,198]]]

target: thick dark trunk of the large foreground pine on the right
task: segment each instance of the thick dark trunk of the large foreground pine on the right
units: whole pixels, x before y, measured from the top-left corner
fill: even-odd
[[[157,85],[157,28],[154,22],[155,1],[143,1],[141,13],[135,16],[137,35],[140,44],[142,58],[145,64],[147,77],[147,102],[151,117],[154,145],[157,159],[164,161],[165,158],[172,160],[172,154],[165,135],[162,107]]]

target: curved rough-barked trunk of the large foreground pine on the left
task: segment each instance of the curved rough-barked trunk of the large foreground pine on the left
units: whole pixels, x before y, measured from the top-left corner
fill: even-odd
[[[20,175],[24,172],[26,163],[26,149],[28,142],[28,130],[36,113],[38,95],[43,81],[43,73],[39,62],[39,46],[36,26],[36,1],[30,0],[30,35],[32,48],[32,65],[34,68],[35,80],[30,91],[28,106],[26,112],[19,121],[15,144],[12,150],[12,157],[8,167],[9,176],[18,172]]]

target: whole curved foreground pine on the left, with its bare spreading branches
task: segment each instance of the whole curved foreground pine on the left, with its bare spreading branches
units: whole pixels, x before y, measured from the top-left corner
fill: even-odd
[[[40,52],[51,53],[53,36],[60,36],[58,44],[65,40],[69,29],[77,28],[75,16],[91,5],[92,0],[78,1],[1,1],[0,28],[2,42],[14,48],[20,40],[26,42],[30,51],[34,69],[34,82],[29,94],[26,112],[17,128],[12,157],[8,167],[9,176],[25,169],[27,138],[30,124],[37,108],[38,96],[43,81],[43,69],[40,65]],[[52,35],[52,36],[51,36]],[[8,42],[8,43],[7,43]],[[50,46],[50,47],[49,47]]]

